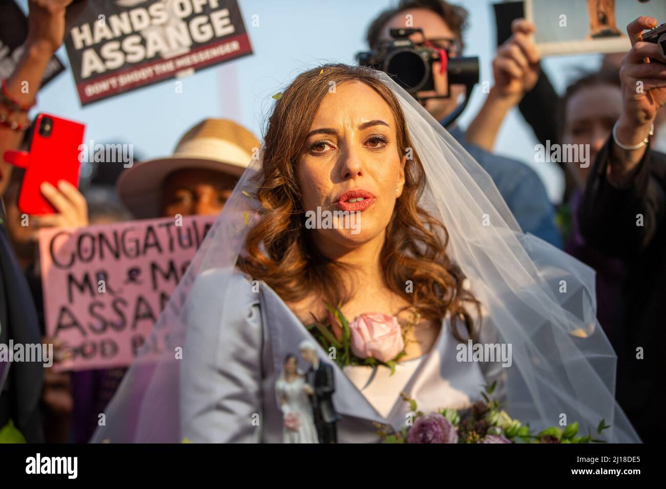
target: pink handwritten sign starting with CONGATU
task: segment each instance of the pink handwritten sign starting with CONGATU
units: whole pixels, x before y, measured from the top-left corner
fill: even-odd
[[[46,331],[71,352],[54,368],[131,364],[213,222],[191,216],[41,230]]]

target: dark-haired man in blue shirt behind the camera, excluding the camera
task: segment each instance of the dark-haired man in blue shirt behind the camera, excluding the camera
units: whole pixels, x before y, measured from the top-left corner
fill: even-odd
[[[410,40],[417,45],[446,52],[446,57],[462,55],[464,43],[462,31],[467,23],[467,11],[444,0],[401,0],[397,7],[380,13],[368,27],[366,41],[375,51],[392,39],[390,29],[414,27],[423,34],[414,33]],[[440,54],[440,59],[443,59]],[[444,120],[458,106],[464,95],[463,85],[452,84],[448,97],[446,69],[439,62],[432,65],[435,90],[417,92],[422,105],[437,120]],[[515,216],[524,232],[530,232],[543,240],[561,247],[561,238],[555,226],[553,204],[548,200],[543,182],[529,166],[492,154],[465,140],[465,135],[456,126],[447,127],[462,146],[490,174],[501,196]]]

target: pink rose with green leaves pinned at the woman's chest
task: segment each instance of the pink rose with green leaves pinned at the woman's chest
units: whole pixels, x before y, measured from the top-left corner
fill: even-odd
[[[328,321],[317,320],[306,326],[314,339],[341,368],[346,365],[383,365],[391,369],[393,375],[396,362],[406,355],[407,333],[420,321],[420,313],[414,311],[410,321],[404,326],[398,318],[383,313],[365,313],[349,323],[341,304],[332,307],[324,301],[328,311]]]

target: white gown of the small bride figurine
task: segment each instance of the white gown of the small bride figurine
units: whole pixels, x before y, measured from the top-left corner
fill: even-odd
[[[278,400],[284,399],[288,412],[296,413],[299,424],[298,429],[293,430],[283,426],[282,442],[284,443],[318,443],[317,430],[312,420],[312,405],[304,391],[305,380],[296,377],[294,381],[287,382],[284,379],[277,381],[275,385]],[[278,401],[279,402],[279,401]]]

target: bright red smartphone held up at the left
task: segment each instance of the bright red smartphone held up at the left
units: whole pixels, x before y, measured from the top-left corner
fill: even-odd
[[[25,168],[19,209],[25,214],[53,214],[55,208],[43,196],[39,186],[49,182],[57,188],[59,180],[79,186],[79,154],[85,125],[50,114],[39,114],[28,151],[6,151],[4,158]]]

